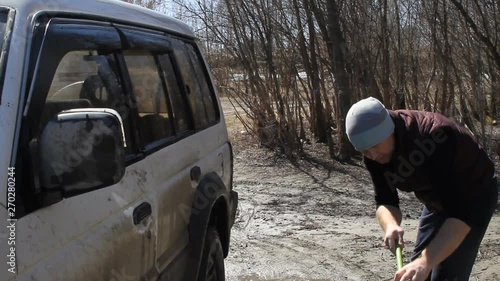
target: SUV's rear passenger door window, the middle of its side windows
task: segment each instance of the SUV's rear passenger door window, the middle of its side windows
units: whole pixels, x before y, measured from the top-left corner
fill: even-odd
[[[174,136],[161,68],[150,51],[127,50],[123,55],[139,113],[138,130],[143,144],[156,146],[155,142]]]

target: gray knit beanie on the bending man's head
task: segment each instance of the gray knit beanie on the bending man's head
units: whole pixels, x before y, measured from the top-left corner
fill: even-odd
[[[379,144],[394,131],[394,121],[376,98],[353,104],[345,120],[347,137],[357,151]]]

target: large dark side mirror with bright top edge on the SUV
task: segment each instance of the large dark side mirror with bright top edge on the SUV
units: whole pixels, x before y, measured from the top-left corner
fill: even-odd
[[[112,109],[59,113],[40,136],[42,205],[119,182],[125,174],[124,143],[120,115]]]

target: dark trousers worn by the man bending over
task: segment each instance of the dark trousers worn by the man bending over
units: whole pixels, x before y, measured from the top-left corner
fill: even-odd
[[[492,184],[491,193],[477,206],[481,209],[478,213],[477,223],[471,227],[460,246],[443,262],[432,269],[428,281],[468,281],[472,266],[479,251],[488,224],[495,211],[498,201],[498,187],[496,180]],[[417,242],[411,260],[418,258],[425,247],[431,242],[443,225],[446,217],[431,213],[426,207],[422,210],[417,233]]]

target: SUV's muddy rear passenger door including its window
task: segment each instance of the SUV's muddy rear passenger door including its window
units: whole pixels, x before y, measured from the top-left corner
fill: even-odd
[[[188,224],[197,150],[185,141],[194,134],[186,96],[172,63],[168,36],[120,27],[127,41],[127,74],[136,104],[140,149],[148,171],[148,199],[158,206],[156,263],[162,280],[185,280]]]

